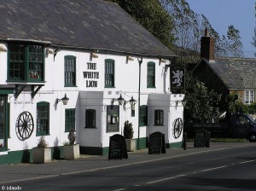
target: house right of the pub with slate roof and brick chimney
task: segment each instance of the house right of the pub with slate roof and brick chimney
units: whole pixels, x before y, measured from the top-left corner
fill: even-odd
[[[216,57],[214,43],[207,32],[201,38],[201,60],[193,69],[195,77],[223,96],[236,92],[243,103],[255,102],[256,59]]]

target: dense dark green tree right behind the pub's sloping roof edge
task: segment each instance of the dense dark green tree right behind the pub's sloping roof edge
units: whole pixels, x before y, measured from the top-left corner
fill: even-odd
[[[168,48],[172,48],[172,17],[166,13],[158,0],[106,0],[119,6],[143,25],[154,37],[160,39]]]

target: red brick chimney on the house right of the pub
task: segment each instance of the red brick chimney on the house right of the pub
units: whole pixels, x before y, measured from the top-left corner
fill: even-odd
[[[205,36],[201,38],[201,58],[215,60],[215,39],[209,36],[207,28],[205,29]]]

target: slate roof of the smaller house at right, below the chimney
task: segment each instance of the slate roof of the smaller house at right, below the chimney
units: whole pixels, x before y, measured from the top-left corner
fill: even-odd
[[[228,89],[256,89],[256,59],[217,58],[206,63]]]

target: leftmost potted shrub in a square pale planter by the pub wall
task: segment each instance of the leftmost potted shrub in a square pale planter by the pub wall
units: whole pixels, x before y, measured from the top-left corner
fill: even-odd
[[[32,149],[33,163],[48,163],[51,161],[51,149],[48,148],[48,144],[41,136],[38,140],[37,148]]]

